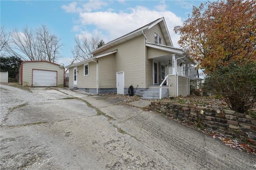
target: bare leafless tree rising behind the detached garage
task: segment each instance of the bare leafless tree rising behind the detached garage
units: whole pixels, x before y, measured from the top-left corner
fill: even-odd
[[[50,29],[42,25],[36,29],[24,27],[22,32],[14,29],[10,35],[11,41],[5,45],[4,50],[12,56],[24,60],[46,60],[55,62],[59,55],[60,38],[50,33]]]

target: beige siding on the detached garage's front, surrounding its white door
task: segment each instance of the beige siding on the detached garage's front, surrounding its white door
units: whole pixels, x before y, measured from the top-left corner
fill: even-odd
[[[22,63],[22,85],[32,86],[32,69],[57,71],[57,86],[64,86],[64,69],[56,64],[44,61]]]

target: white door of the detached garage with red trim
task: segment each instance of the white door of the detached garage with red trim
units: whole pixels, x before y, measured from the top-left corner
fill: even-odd
[[[32,85],[34,87],[56,87],[57,71],[33,70]]]

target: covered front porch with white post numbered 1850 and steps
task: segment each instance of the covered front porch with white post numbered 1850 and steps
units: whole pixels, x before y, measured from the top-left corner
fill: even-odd
[[[190,95],[189,68],[196,63],[180,48],[146,43],[148,59],[152,60],[153,79],[150,89],[158,89],[159,99]],[[166,96],[165,89],[168,90]],[[146,92],[147,93],[147,92]]]

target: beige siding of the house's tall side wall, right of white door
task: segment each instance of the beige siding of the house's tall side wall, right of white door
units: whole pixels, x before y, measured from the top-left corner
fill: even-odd
[[[144,88],[144,36],[138,36],[95,55],[100,55],[116,49],[118,51],[115,53],[115,74],[118,72],[124,72],[124,88],[128,88],[130,85],[133,85],[134,87],[139,85],[138,88]]]

